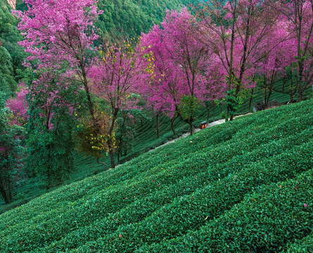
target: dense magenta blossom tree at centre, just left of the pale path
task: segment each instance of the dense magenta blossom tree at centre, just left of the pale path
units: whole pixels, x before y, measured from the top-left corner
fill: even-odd
[[[167,112],[172,119],[171,126],[177,115],[184,117],[191,134],[210,58],[206,47],[197,39],[198,28],[196,18],[184,8],[167,11],[161,27],[155,25],[142,37],[142,45],[147,54],[152,53],[154,63],[148,99]]]

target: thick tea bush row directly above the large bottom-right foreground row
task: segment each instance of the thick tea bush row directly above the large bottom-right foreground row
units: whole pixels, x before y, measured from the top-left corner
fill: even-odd
[[[270,160],[256,162],[237,173],[229,174],[190,195],[176,198],[170,205],[161,207],[144,221],[129,226],[125,223],[111,235],[106,231],[103,233],[106,237],[87,243],[78,250],[134,252],[141,245],[169,240],[184,235],[188,230],[197,230],[241,202],[245,194],[263,185],[292,179],[311,168],[312,153],[313,139],[304,145],[295,146],[294,150],[286,150]]]

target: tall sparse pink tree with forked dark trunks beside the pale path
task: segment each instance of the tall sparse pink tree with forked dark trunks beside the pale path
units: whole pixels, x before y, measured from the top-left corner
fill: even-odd
[[[280,38],[275,44],[264,43],[272,35],[280,15],[264,4],[262,0],[209,0],[198,11],[202,18],[205,39],[203,43],[217,55],[227,74],[227,91],[234,89],[234,101],[238,101],[243,89],[255,84],[253,78],[254,65],[264,57],[260,52],[272,51],[286,38]],[[227,115],[232,120],[234,107],[228,103]],[[231,108],[230,107],[233,107]]]

